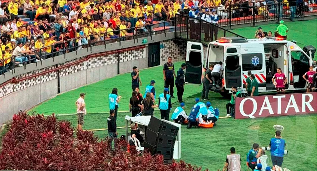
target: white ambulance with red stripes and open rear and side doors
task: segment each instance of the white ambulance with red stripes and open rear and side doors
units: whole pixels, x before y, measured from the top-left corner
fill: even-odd
[[[309,45],[301,49],[296,42],[278,37],[223,37],[210,42],[205,51],[202,43],[187,42],[185,82],[201,84],[204,71],[209,65],[221,61],[224,69],[222,82],[219,85],[210,85],[210,90],[223,96],[228,96],[233,86],[242,93],[247,93],[245,83],[248,71],[255,75],[259,92],[276,91],[272,83],[276,67],[281,68],[287,76],[285,91],[304,90],[306,81],[302,76],[316,63],[312,61],[316,48]]]

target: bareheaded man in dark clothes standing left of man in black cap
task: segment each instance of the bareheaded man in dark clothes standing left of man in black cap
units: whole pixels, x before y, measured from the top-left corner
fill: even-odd
[[[167,62],[163,66],[164,87],[170,89],[170,95],[174,98],[174,76],[176,77],[172,57],[168,57]]]

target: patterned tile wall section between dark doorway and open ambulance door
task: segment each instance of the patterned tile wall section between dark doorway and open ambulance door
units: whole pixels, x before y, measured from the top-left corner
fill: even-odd
[[[173,40],[165,40],[161,41],[161,47],[163,45],[163,49],[160,49],[161,55],[161,64],[167,61],[168,57],[172,57],[173,61],[181,61],[186,58],[186,41],[174,43]]]

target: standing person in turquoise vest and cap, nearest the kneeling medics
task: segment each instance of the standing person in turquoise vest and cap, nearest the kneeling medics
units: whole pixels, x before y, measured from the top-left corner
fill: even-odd
[[[171,95],[168,94],[168,88],[165,88],[163,93],[159,95],[159,109],[161,111],[161,119],[169,119],[171,108]]]

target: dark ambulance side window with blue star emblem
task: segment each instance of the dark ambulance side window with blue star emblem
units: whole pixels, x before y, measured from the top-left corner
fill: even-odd
[[[242,54],[242,70],[262,70],[263,58],[262,53]]]

